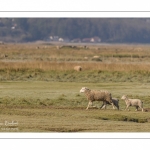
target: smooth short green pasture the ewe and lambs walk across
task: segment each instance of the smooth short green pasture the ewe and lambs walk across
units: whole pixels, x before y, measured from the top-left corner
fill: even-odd
[[[128,93],[149,108],[149,85],[139,83],[1,82],[0,122],[18,121],[8,132],[149,132],[149,112],[90,108],[79,90],[82,86],[107,89],[113,97]],[[136,89],[131,88],[135,86]],[[115,87],[115,88],[114,88]],[[132,89],[132,90],[131,90]],[[139,92],[140,91],[140,92]],[[134,93],[134,94],[133,94]],[[101,103],[95,102],[99,107]],[[1,132],[6,127],[1,126]]]

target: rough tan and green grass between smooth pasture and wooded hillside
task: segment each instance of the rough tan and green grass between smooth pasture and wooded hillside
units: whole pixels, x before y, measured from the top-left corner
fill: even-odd
[[[150,82],[149,45],[0,45],[0,81]],[[93,60],[98,55],[102,61]],[[84,59],[87,57],[87,59]],[[80,65],[83,72],[75,72]]]

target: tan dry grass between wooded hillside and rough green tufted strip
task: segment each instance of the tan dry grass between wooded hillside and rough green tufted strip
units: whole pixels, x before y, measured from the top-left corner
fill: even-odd
[[[75,48],[46,44],[0,45],[0,70],[73,70],[76,65],[83,70],[150,71],[149,45],[100,45]],[[101,61],[93,60],[100,56]],[[86,59],[84,59],[86,57]]]

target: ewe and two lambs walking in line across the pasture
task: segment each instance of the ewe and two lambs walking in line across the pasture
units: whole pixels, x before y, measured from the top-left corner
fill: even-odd
[[[88,109],[89,107],[95,107],[93,106],[94,101],[102,101],[103,104],[100,109],[106,109],[106,105],[111,104],[113,106],[113,109],[117,107],[117,109],[119,110],[119,100],[117,98],[112,98],[111,93],[107,90],[90,90],[87,87],[82,87],[80,93],[85,93],[85,96],[89,101],[86,109]],[[126,95],[123,95],[121,99],[125,101],[126,109],[129,110],[129,106],[135,106],[136,111],[138,110],[138,108],[141,108],[143,112],[143,102],[140,99],[129,99]]]

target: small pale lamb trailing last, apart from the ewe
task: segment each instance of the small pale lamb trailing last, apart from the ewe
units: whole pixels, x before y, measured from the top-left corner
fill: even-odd
[[[123,95],[121,97],[121,99],[125,100],[126,109],[129,110],[129,106],[135,106],[136,107],[135,111],[137,111],[138,107],[140,107],[142,109],[142,112],[143,112],[143,102],[140,99],[129,99],[127,95]]]

